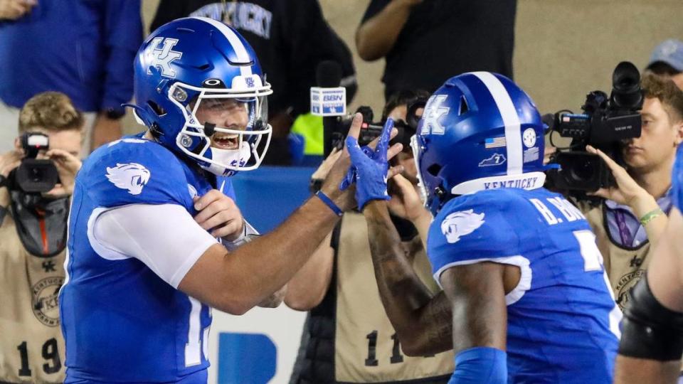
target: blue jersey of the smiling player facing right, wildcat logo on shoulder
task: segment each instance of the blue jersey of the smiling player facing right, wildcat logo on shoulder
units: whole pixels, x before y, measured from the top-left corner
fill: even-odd
[[[212,188],[196,167],[144,139],[122,139],[86,159],[75,181],[59,297],[66,383],[206,383],[210,309],[135,258],[98,255],[86,234],[90,218],[117,206],[177,204],[195,215],[193,196]],[[164,233],[149,228],[149,235]]]

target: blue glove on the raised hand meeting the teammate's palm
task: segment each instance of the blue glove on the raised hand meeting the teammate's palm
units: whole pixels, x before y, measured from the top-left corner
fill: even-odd
[[[356,201],[361,211],[369,201],[389,199],[386,191],[386,174],[389,169],[386,150],[391,129],[393,129],[393,120],[387,119],[374,151],[368,146],[361,148],[355,137],[346,137],[346,149],[349,150],[351,156],[351,167],[339,188],[343,191],[352,183],[356,183]]]

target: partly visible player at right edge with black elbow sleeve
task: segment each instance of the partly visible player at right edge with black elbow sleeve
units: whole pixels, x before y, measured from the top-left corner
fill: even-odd
[[[669,222],[624,311],[615,383],[681,383],[683,354],[683,149],[672,176]]]

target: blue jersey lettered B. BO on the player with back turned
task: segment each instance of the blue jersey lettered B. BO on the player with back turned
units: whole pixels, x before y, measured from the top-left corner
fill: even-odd
[[[621,312],[595,235],[565,198],[504,188],[448,201],[428,257],[437,281],[475,262],[521,270],[505,297],[509,383],[612,383]]]

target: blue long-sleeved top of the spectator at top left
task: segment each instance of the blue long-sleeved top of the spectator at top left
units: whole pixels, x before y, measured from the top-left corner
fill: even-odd
[[[141,43],[139,0],[38,0],[26,16],[0,21],[0,100],[21,108],[59,91],[85,112],[120,108]]]

